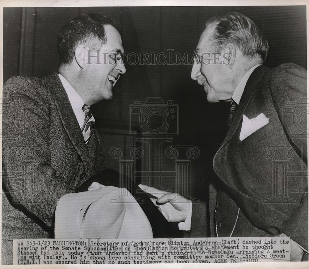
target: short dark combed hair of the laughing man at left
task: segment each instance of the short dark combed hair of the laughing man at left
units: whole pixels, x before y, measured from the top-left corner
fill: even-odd
[[[74,58],[75,49],[79,44],[91,44],[97,38],[101,45],[107,42],[104,25],[116,24],[112,19],[90,13],[78,16],[68,21],[61,29],[57,40],[57,50],[60,65],[70,64]],[[99,44],[92,44],[99,45]]]

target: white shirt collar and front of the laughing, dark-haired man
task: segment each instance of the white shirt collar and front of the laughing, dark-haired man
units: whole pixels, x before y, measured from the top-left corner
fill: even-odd
[[[80,97],[80,95],[77,93],[76,90],[74,90],[74,88],[72,87],[72,85],[66,80],[66,78],[64,76],[62,76],[61,74],[58,74],[61,83],[66,91],[66,94],[69,97],[69,101],[71,104],[71,107],[73,109],[73,112],[76,116],[76,119],[78,121],[79,127],[82,128],[84,121],[85,121],[85,114],[83,112],[83,105],[84,105],[84,101],[83,99]]]

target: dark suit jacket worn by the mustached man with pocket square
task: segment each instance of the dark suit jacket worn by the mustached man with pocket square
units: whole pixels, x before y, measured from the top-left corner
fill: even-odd
[[[211,236],[285,233],[308,249],[307,72],[294,64],[257,67],[248,79],[225,140],[213,160],[209,188]],[[243,115],[269,124],[239,140]],[[205,236],[193,204],[191,236]],[[198,224],[197,222],[200,222]],[[217,230],[217,231],[216,231]]]

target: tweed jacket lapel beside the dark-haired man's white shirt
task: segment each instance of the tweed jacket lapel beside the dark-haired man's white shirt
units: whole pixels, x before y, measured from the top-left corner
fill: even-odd
[[[57,107],[61,122],[66,133],[72,142],[76,152],[80,156],[85,170],[87,172],[88,152],[82,132],[79,128],[78,121],[71,107],[69,98],[62,86],[61,80],[57,73],[51,74],[44,78],[45,85],[51,90],[55,97],[55,105]]]

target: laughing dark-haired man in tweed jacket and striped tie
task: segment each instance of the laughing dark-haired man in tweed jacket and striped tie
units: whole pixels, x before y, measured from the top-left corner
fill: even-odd
[[[82,15],[62,28],[57,49],[59,74],[3,87],[2,264],[12,263],[13,239],[52,237],[57,200],[104,168],[98,132],[87,145],[81,132],[82,107],[112,98],[126,71],[121,36],[111,19]],[[99,65],[94,49],[107,56]]]

